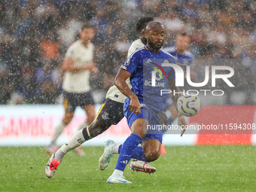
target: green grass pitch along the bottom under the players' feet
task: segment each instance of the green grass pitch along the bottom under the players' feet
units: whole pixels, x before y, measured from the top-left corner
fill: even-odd
[[[108,169],[98,169],[103,147],[84,147],[86,157],[70,151],[53,178],[44,174],[50,158],[43,147],[0,148],[0,191],[255,191],[254,146],[166,147],[166,156],[151,162],[154,174],[133,172],[133,184],[107,184],[117,155]],[[130,165],[130,164],[129,164]],[[129,169],[128,169],[129,168]]]

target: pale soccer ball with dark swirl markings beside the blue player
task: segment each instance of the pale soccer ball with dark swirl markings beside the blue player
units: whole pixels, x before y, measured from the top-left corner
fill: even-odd
[[[177,101],[178,112],[187,117],[196,115],[201,108],[199,96],[180,96]]]

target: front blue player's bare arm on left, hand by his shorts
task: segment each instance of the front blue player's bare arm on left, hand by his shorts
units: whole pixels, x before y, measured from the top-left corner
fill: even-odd
[[[120,90],[123,95],[131,99],[130,110],[138,115],[139,113],[141,113],[141,105],[139,103],[139,99],[136,94],[133,93],[132,90],[130,90],[128,84],[126,84],[126,79],[130,78],[130,75],[130,72],[126,72],[126,70],[124,69],[119,69],[119,72],[114,79],[114,85],[117,86],[118,90]]]

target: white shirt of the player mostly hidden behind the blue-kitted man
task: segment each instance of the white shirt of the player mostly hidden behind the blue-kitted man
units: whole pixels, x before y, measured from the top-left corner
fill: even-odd
[[[131,44],[129,50],[128,50],[128,56],[130,56],[135,50],[144,47],[145,44],[142,43],[142,41],[140,39],[137,39],[136,41],[133,41],[133,44]],[[130,84],[130,78],[126,79],[126,84],[128,84],[128,86],[130,87],[130,89],[132,88],[131,84]],[[120,90],[117,89],[117,87],[115,85],[113,85],[112,87],[109,88],[108,93],[106,95],[106,98],[109,98],[115,102],[122,102],[124,103],[126,96],[123,95],[123,93],[120,92]]]

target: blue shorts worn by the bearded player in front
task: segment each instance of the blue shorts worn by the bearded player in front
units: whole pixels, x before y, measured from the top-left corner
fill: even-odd
[[[128,126],[131,128],[133,125],[133,122],[137,119],[145,118],[148,120],[148,133],[145,136],[145,139],[143,139],[142,142],[148,139],[157,139],[160,143],[162,143],[163,140],[163,130],[159,129],[160,125],[160,119],[158,117],[159,111],[154,111],[152,108],[148,107],[143,103],[142,100],[139,99],[139,102],[141,103],[141,114],[134,114],[132,111],[130,111],[130,99],[127,98],[123,105],[123,114],[124,117],[127,119]]]

